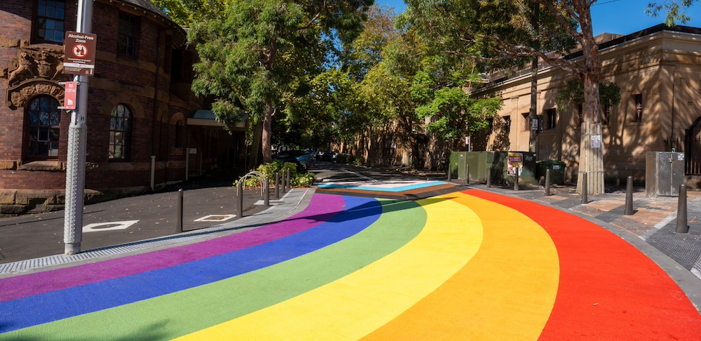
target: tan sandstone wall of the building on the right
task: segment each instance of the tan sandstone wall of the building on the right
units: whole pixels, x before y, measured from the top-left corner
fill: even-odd
[[[614,82],[621,89],[621,102],[611,108],[610,121],[604,124],[605,177],[620,182],[633,175],[644,181],[646,152],[669,151],[671,141],[683,138],[684,130],[701,116],[701,35],[658,30],[601,50],[601,82]],[[557,109],[556,99],[569,75],[545,67],[538,72],[538,109]],[[482,89],[477,95],[501,95],[501,118],[495,130],[486,136],[486,150],[529,150],[529,131],[524,130],[531,100],[530,75],[509,79]],[[643,119],[636,121],[636,95],[643,98]],[[603,106],[602,106],[603,109]],[[510,133],[500,128],[503,117],[510,116]],[[547,121],[547,120],[546,120]],[[547,123],[547,122],[546,122]],[[557,110],[554,129],[538,134],[538,160],[567,163],[567,178],[576,178],[580,144],[578,106],[570,103]],[[504,149],[505,148],[505,149]],[[679,151],[679,147],[677,147]],[[625,181],[625,180],[624,180]],[[625,182],[624,182],[625,183]]]

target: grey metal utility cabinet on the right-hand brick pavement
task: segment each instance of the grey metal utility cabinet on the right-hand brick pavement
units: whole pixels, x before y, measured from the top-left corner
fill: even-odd
[[[647,196],[679,196],[679,185],[683,183],[683,153],[647,152],[645,154]]]

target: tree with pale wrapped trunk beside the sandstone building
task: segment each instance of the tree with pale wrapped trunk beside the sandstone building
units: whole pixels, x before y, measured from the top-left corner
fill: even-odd
[[[526,6],[527,3],[537,6]],[[482,62],[538,57],[583,83],[583,124],[579,171],[589,176],[587,192],[604,193],[603,151],[592,148],[601,134],[599,79],[601,60],[594,41],[590,8],[597,0],[409,0],[421,15],[419,24],[436,36],[447,53],[470,55]],[[537,29],[533,10],[538,9]],[[534,44],[535,41],[538,44]],[[576,43],[581,58],[567,58]],[[472,48],[472,51],[465,51]],[[582,191],[578,177],[578,191]]]

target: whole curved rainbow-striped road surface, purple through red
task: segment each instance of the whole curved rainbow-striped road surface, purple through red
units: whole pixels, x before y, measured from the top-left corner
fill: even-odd
[[[0,340],[698,340],[636,248],[479,190],[315,194],[239,234],[0,279]]]

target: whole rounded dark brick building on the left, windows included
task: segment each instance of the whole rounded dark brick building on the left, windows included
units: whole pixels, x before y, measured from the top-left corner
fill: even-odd
[[[57,107],[59,82],[69,80],[64,32],[75,30],[76,15],[77,0],[0,1],[0,213],[62,208],[70,115]],[[190,91],[196,55],[184,29],[149,0],[96,0],[93,33],[88,202],[243,157],[243,133],[223,131]]]

